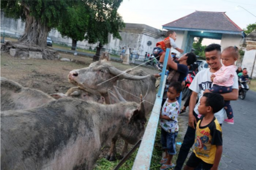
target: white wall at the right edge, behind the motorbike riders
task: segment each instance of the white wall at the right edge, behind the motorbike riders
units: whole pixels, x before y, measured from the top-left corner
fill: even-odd
[[[255,57],[256,57],[256,50],[249,50],[249,51],[246,50],[244,53],[242,68],[247,68],[249,76],[251,76],[251,73],[252,73],[252,67],[254,64]],[[256,66],[254,66],[252,78],[256,78]]]

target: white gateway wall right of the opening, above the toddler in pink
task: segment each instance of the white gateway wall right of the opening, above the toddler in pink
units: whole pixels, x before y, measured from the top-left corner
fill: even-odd
[[[228,46],[240,47],[242,39],[243,38],[241,35],[223,34],[221,38],[221,50],[225,49]]]

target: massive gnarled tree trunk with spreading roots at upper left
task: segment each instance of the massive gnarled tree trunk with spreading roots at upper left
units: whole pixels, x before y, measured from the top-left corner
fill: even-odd
[[[7,42],[1,47],[1,51],[9,52],[10,49],[16,49],[17,54],[35,51],[42,53],[43,59],[55,59],[58,53],[55,50],[47,48],[47,34],[50,28],[40,19],[30,15],[29,7],[22,1],[24,13],[26,15],[25,31],[18,42]]]

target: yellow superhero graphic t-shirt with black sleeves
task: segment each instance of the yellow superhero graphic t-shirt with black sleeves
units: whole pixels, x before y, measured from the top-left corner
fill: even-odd
[[[222,146],[222,130],[218,120],[214,119],[206,126],[200,126],[204,116],[197,122],[194,153],[202,161],[213,164],[216,146]]]

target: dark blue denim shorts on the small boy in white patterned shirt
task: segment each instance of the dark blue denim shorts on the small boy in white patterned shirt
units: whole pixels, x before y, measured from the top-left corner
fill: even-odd
[[[161,143],[163,149],[167,149],[168,154],[175,155],[176,154],[176,138],[177,138],[178,132],[169,133],[163,130],[161,128]]]

